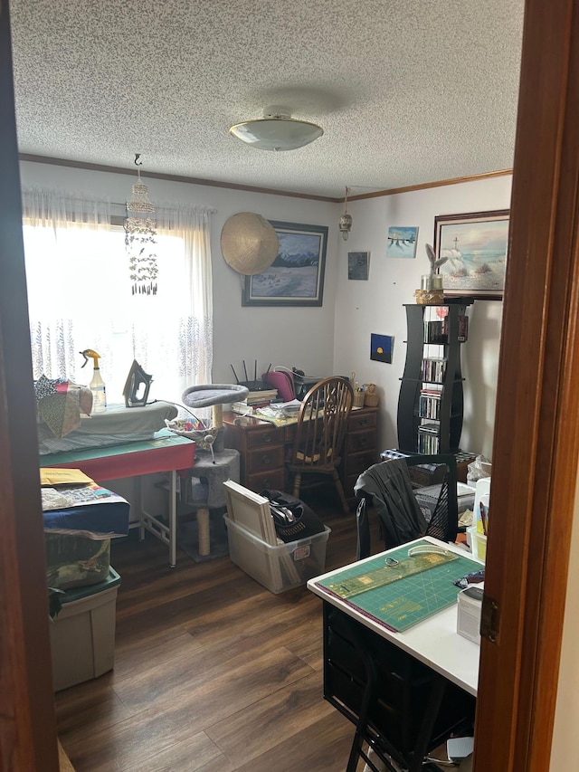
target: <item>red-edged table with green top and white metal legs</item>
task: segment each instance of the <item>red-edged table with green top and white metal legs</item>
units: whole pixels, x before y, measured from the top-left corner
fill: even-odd
[[[167,429],[151,440],[79,451],[47,453],[40,456],[40,466],[80,469],[95,481],[139,478],[143,474],[169,472],[168,525],[155,515],[145,512],[139,487],[138,528],[141,538],[147,529],[169,547],[169,566],[176,566],[177,534],[177,471],[189,469],[195,460],[195,443]]]

